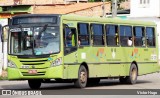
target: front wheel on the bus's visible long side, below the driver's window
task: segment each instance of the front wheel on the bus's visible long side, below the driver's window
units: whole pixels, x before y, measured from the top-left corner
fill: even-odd
[[[87,69],[81,65],[78,71],[78,79],[74,82],[75,87],[84,88],[87,85],[88,72]]]

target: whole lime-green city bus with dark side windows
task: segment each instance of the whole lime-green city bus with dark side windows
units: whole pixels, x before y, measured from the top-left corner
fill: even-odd
[[[77,15],[30,14],[11,19],[8,79],[41,83],[74,82],[76,87],[158,72],[158,41],[153,22]]]

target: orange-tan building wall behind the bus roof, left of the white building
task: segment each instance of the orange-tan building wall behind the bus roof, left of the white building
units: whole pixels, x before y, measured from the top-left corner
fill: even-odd
[[[56,6],[42,6],[37,5],[33,7],[33,12],[35,14],[77,14],[82,16],[102,16],[103,3],[93,2],[93,3],[72,3],[66,5],[56,5]],[[106,12],[110,12],[110,3],[105,3]]]

